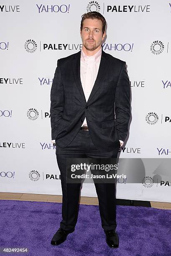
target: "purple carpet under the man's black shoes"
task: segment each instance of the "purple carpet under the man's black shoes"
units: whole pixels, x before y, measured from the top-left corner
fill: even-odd
[[[0,248],[28,248],[8,255],[29,256],[171,256],[171,210],[117,206],[115,249],[105,242],[98,206],[80,205],[74,233],[51,246],[60,221],[61,203],[0,200]]]

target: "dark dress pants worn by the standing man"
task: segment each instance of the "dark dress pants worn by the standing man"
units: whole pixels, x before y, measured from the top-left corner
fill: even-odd
[[[100,152],[93,144],[89,131],[79,130],[74,140],[66,148],[58,146],[56,140],[56,159],[61,173],[62,187],[62,220],[60,228],[74,230],[79,212],[79,195],[81,183],[66,182],[66,158],[117,158],[120,148],[110,152]],[[99,200],[99,210],[104,230],[115,229],[116,197],[115,183],[94,183]]]

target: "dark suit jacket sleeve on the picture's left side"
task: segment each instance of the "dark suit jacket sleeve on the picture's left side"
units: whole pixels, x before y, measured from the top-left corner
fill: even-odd
[[[58,132],[59,121],[64,109],[64,86],[61,78],[60,64],[57,62],[56,71],[51,87],[51,139],[55,140]]]

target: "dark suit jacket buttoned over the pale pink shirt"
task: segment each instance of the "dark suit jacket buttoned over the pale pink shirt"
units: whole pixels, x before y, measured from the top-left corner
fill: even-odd
[[[80,54],[81,51],[57,63],[51,87],[52,140],[61,148],[67,147],[86,117],[94,145],[102,152],[112,151],[128,133],[130,82],[126,63],[102,51],[97,79],[86,102],[80,79]]]

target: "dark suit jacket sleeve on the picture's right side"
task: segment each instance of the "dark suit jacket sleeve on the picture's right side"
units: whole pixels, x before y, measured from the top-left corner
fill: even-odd
[[[125,141],[130,120],[130,81],[126,72],[125,61],[120,71],[115,92],[115,113],[115,129],[119,139]]]

